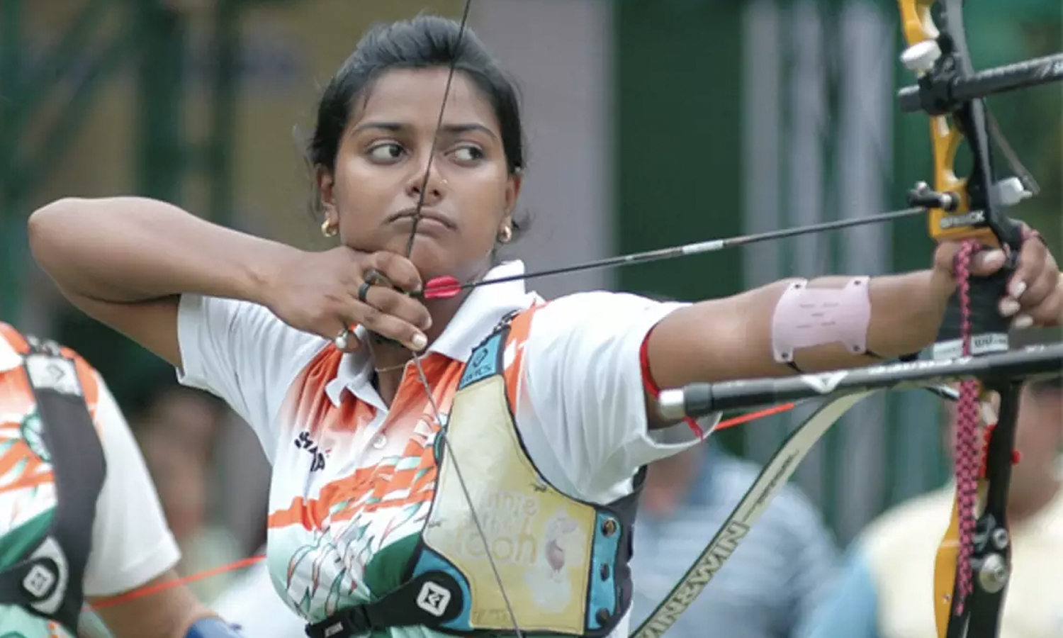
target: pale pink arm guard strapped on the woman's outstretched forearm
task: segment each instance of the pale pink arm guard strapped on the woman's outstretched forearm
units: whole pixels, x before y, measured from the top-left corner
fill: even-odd
[[[772,315],[772,352],[790,364],[798,348],[841,342],[855,354],[867,352],[871,278],[858,276],[841,288],[809,288],[808,280],[787,287]]]

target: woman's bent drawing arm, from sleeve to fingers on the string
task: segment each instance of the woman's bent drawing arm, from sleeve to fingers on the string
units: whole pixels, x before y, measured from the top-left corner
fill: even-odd
[[[265,306],[326,339],[360,323],[412,343],[427,321],[420,302],[383,287],[378,307],[358,300],[367,268],[403,289],[420,287],[417,269],[400,255],[306,252],[156,200],[62,199],[30,216],[29,235],[37,263],[74,305],[178,368],[183,295]]]

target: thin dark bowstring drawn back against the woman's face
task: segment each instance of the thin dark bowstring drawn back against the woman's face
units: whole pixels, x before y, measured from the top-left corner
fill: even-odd
[[[424,206],[424,197],[428,188],[428,179],[432,174],[432,163],[436,157],[436,146],[439,142],[439,133],[443,128],[443,115],[446,112],[446,98],[451,93],[451,83],[454,80],[454,72],[457,68],[458,52],[461,49],[461,45],[465,40],[466,30],[469,23],[469,10],[472,6],[472,0],[466,0],[465,7],[461,12],[461,21],[458,26],[458,37],[454,45],[454,51],[451,55],[451,64],[446,73],[446,84],[443,87],[443,99],[442,103],[439,105],[439,117],[436,120],[436,132],[432,136],[432,146],[428,150],[428,161],[424,167],[424,179],[421,181],[421,192],[418,196],[417,206],[414,209],[414,221],[410,226],[409,239],[406,241],[406,258],[410,258],[414,253],[414,239],[417,238],[417,226],[421,221],[421,208]],[[520,623],[517,622],[517,614],[513,611],[513,605],[509,600],[509,594],[506,593],[506,587],[503,585],[502,572],[499,571],[499,566],[494,561],[494,557],[491,555],[490,542],[487,540],[487,535],[484,533],[484,525],[480,523],[479,516],[476,514],[476,508],[473,506],[472,494],[469,491],[469,487],[466,484],[465,476],[461,474],[460,464],[454,454],[454,449],[446,440],[446,426],[443,424],[442,413],[439,409],[439,404],[436,402],[436,398],[432,391],[432,385],[428,383],[428,376],[424,372],[424,367],[421,365],[421,355],[417,352],[411,351],[414,367],[417,369],[417,375],[421,382],[421,386],[424,388],[424,393],[428,399],[428,405],[432,408],[432,417],[436,421],[436,425],[439,427],[436,438],[437,441],[441,441],[443,444],[443,452],[450,457],[450,461],[454,465],[454,475],[458,480],[458,486],[461,488],[461,493],[465,496],[466,504],[469,506],[469,515],[472,518],[473,525],[476,527],[477,534],[479,534],[479,540],[484,544],[484,554],[487,556],[488,565],[491,567],[491,573],[494,575],[494,582],[499,585],[499,592],[502,594],[502,601],[506,605],[506,612],[509,615],[509,620],[513,623],[513,633],[517,634],[517,638],[524,638],[524,633],[521,632]]]

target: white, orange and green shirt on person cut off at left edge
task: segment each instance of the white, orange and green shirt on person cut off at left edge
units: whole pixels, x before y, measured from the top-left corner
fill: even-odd
[[[4,457],[22,448],[19,425],[32,409],[24,384],[14,382],[21,365],[21,355],[0,338],[0,449]],[[181,554],[129,425],[103,379],[95,370],[92,374],[97,398],[88,407],[107,473],[96,503],[84,592],[108,597],[145,585],[175,566]],[[55,484],[38,480],[48,476],[51,466],[35,461],[0,472],[0,544],[19,542],[19,534],[55,507]],[[66,636],[56,625],[16,607],[0,607],[0,627],[17,629],[27,638]]]

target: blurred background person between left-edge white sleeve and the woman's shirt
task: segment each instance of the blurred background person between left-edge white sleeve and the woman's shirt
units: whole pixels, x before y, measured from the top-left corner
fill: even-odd
[[[233,534],[213,516],[217,491],[210,488],[213,465],[227,414],[225,404],[202,390],[179,385],[172,375],[151,383],[140,401],[140,409],[132,417],[133,431],[181,548],[178,573],[193,575],[243,558]],[[232,577],[230,572],[216,574],[196,580],[188,588],[209,603]]]

